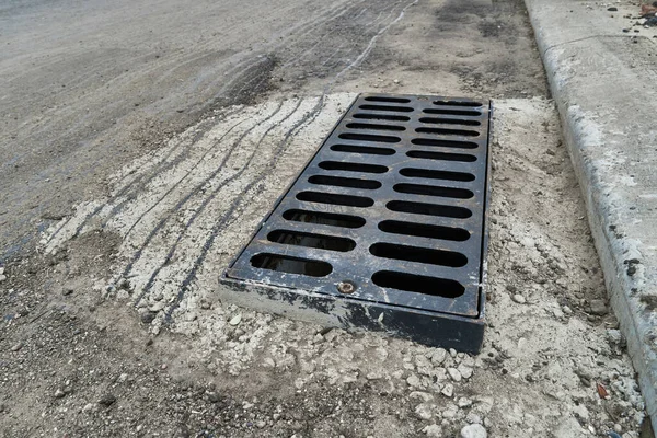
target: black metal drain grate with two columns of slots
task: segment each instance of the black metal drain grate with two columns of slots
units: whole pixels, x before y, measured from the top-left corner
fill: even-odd
[[[491,104],[361,94],[221,277],[228,300],[476,353]]]

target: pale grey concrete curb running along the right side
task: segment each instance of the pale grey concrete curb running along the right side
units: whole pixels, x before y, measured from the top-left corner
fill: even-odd
[[[657,44],[623,34],[593,2],[525,2],[657,430]]]

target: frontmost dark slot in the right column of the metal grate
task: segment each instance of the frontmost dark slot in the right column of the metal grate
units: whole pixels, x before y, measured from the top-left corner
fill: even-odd
[[[384,288],[445,298],[457,298],[465,292],[465,288],[459,281],[424,275],[395,273],[394,270],[380,270],[372,275],[372,281],[374,285]]]

